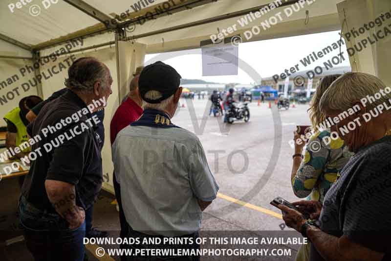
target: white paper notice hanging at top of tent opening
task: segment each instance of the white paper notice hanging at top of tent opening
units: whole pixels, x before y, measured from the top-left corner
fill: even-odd
[[[239,47],[202,47],[202,76],[238,75]]]

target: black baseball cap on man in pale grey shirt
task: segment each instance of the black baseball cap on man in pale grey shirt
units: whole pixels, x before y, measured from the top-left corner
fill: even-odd
[[[141,71],[138,79],[141,98],[148,103],[159,103],[176,92],[181,78],[173,67],[161,61],[148,65]],[[148,91],[158,91],[162,97],[154,100],[145,98]]]

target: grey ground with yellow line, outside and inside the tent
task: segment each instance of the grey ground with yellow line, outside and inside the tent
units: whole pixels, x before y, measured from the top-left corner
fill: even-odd
[[[288,201],[297,198],[290,185],[293,149],[288,141],[293,138],[296,125],[308,125],[308,105],[278,110],[269,109],[267,103],[250,104],[250,121],[222,124],[221,117],[209,117],[205,100],[181,100],[173,123],[195,132],[205,150],[208,163],[220,187],[219,197],[204,212],[202,237],[301,237],[299,233],[281,228],[281,212],[269,203],[277,196]],[[228,128],[227,128],[228,127]],[[240,173],[238,173],[240,172]],[[0,242],[21,235],[18,231],[16,206],[19,196],[17,179],[0,183]],[[102,192],[94,207],[94,227],[108,230],[117,237],[118,214],[110,204],[112,195]],[[239,199],[243,202],[232,202]],[[245,203],[251,205],[242,206]],[[269,211],[269,212],[268,212]],[[273,212],[273,213],[270,213]],[[201,248],[216,248],[204,245]],[[204,257],[201,260],[294,260],[298,245],[248,245],[236,248],[288,249],[290,256],[283,257]],[[93,249],[93,248],[89,248]],[[91,250],[91,252],[94,252]],[[89,260],[98,260],[87,252]],[[270,252],[269,252],[270,253]],[[118,259],[117,257],[113,257]],[[20,241],[9,246],[0,245],[0,260],[30,261],[32,257]],[[100,260],[103,260],[102,258]],[[110,259],[106,259],[110,260]]]

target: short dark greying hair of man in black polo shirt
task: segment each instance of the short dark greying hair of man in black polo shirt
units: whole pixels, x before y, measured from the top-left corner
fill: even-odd
[[[96,81],[106,81],[107,77],[109,70],[103,63],[94,57],[82,57],[69,67],[65,86],[75,91],[91,91]]]

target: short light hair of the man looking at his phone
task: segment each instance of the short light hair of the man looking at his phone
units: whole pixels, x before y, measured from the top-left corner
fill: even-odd
[[[319,102],[319,108],[321,111],[326,108],[346,111],[367,95],[373,96],[385,88],[386,85],[376,76],[363,72],[348,72],[335,80],[326,90]],[[368,103],[366,108],[371,110],[389,99],[391,99],[391,93]]]

